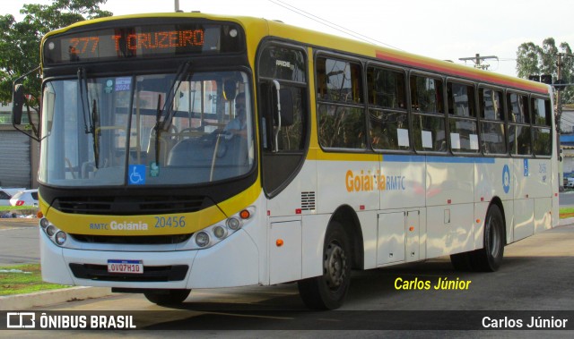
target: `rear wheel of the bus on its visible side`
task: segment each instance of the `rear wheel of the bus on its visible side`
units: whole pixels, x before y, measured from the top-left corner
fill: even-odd
[[[504,257],[505,245],[504,218],[500,208],[491,205],[486,213],[484,223],[484,244],[480,250],[471,253],[471,261],[474,270],[482,272],[497,271]]]

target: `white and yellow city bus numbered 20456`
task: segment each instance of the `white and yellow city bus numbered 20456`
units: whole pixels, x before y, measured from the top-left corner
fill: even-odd
[[[48,282],[158,304],[296,282],[336,309],[352,270],[496,271],[557,225],[548,85],[204,13],[82,21],[40,48]]]

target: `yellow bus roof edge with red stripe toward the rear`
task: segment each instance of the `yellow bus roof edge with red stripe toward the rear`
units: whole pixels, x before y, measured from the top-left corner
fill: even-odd
[[[293,42],[308,44],[311,47],[325,48],[333,52],[345,52],[356,56],[366,56],[373,61],[378,60],[383,63],[404,66],[422,72],[438,72],[440,74],[465,80],[479,81],[541,94],[547,94],[550,91],[549,85],[540,82],[527,81],[525,79],[496,72],[479,70],[462,64],[454,64],[452,62],[433,59],[422,55],[414,55],[393,48],[380,47],[366,42],[353,40],[351,38],[342,38],[315,30],[302,29],[281,21],[269,21],[262,18],[243,16],[232,17],[229,15],[206,13],[143,13],[112,16],[90,21],[79,21],[63,29],[51,31],[42,38],[42,43],[46,38],[54,34],[64,33],[67,30],[77,27],[106,21],[141,18],[202,18],[215,21],[232,21],[239,23],[244,28],[248,28],[249,31],[259,30],[261,36],[269,35],[277,38],[288,39]],[[246,33],[248,36],[251,35],[249,31]]]

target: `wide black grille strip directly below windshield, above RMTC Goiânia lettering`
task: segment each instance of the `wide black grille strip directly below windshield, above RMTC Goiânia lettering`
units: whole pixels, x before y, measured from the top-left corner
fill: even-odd
[[[54,208],[80,215],[159,215],[196,212],[213,205],[201,196],[69,197],[57,198]]]

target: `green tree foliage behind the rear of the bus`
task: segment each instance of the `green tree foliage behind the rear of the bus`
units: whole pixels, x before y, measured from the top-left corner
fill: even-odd
[[[561,58],[561,79],[573,82],[574,58],[572,50],[567,42],[556,46],[554,38],[545,38],[542,46],[533,42],[525,42],[517,50],[517,76],[527,79],[531,74],[551,74],[553,81],[558,79],[558,54],[564,54]],[[574,87],[567,87],[562,91],[562,103],[574,103]]]

